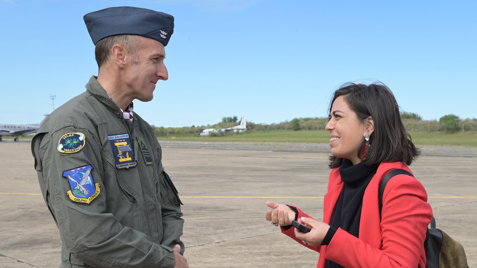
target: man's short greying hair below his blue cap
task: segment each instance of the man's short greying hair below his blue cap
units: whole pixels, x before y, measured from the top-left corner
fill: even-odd
[[[98,63],[98,69],[106,63],[111,56],[114,45],[121,45],[128,54],[133,57],[133,63],[137,63],[139,38],[135,34],[117,34],[105,37],[96,43],[94,55]]]

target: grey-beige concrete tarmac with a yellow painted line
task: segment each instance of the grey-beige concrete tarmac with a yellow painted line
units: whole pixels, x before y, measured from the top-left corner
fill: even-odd
[[[316,267],[318,253],[265,221],[265,201],[321,219],[322,198],[297,197],[326,193],[328,154],[167,146],[163,163],[184,203],[191,268]],[[477,157],[423,155],[411,169],[430,196],[437,227],[464,246],[469,267],[477,266],[477,198],[449,198],[477,196]],[[61,239],[39,195],[29,140],[0,143],[0,193],[0,268],[58,267]],[[259,198],[266,196],[277,198]]]

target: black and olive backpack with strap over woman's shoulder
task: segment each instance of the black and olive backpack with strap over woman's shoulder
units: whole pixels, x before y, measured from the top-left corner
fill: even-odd
[[[388,172],[379,185],[379,217],[383,209],[384,188],[388,181],[395,175],[409,175],[404,169],[393,169]],[[414,177],[414,176],[413,176]],[[426,264],[425,268],[469,268],[467,265],[464,247],[456,240],[449,237],[444,231],[436,229],[436,219],[432,217],[431,228],[427,228],[424,241]],[[421,268],[418,265],[418,268]]]

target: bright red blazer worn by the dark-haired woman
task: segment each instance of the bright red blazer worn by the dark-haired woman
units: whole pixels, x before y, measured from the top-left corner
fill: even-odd
[[[432,219],[424,186],[409,175],[396,175],[384,190],[382,220],[379,218],[378,188],[392,169],[411,170],[401,162],[381,163],[366,187],[359,228],[359,238],[338,228],[328,246],[303,244],[295,237],[294,227],[282,233],[298,243],[320,252],[317,268],[325,259],[345,268],[425,268],[424,240]],[[323,222],[330,224],[333,208],[343,187],[339,168],[330,173],[328,193],[324,196]],[[297,208],[298,209],[298,208]],[[310,217],[298,209],[298,217]]]

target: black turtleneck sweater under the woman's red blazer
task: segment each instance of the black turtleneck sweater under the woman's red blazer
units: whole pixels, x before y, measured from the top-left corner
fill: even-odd
[[[361,209],[363,208],[363,196],[366,187],[376,174],[378,165],[364,165],[358,163],[353,165],[348,159],[344,159],[340,166],[341,180],[344,182],[340,197],[333,209],[330,221],[330,229],[321,245],[330,244],[336,230],[342,228],[344,231],[359,237],[359,223],[361,220]],[[343,246],[345,248],[345,246]],[[344,253],[343,253],[344,254]],[[341,265],[331,260],[326,260],[326,268],[342,268]]]

